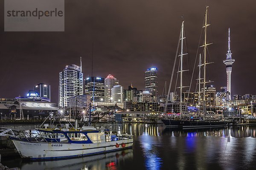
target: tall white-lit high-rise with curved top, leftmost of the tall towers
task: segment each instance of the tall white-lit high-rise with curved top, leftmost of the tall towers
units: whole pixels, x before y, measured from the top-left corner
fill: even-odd
[[[83,94],[83,73],[77,65],[67,65],[59,73],[59,106],[70,106],[70,97]]]

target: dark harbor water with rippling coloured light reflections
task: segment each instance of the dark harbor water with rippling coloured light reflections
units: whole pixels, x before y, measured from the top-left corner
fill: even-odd
[[[100,126],[100,125],[98,125]],[[27,129],[26,126],[15,129]],[[29,125],[30,129],[35,125]],[[255,170],[256,126],[183,130],[163,124],[123,124],[134,135],[132,149],[56,161],[1,163],[21,170]]]

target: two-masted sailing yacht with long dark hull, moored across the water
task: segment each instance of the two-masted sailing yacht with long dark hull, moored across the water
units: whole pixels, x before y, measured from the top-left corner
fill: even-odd
[[[204,77],[203,77],[203,82],[201,82],[201,79],[199,79],[199,84],[203,84],[203,93],[204,93],[204,97],[203,97],[203,101],[202,101],[202,114],[204,115],[204,119],[181,119],[181,115],[182,115],[182,56],[183,54],[183,28],[184,28],[184,21],[182,22],[182,27],[181,27],[181,54],[180,54],[180,119],[179,120],[175,120],[175,119],[161,119],[162,122],[167,126],[167,127],[183,127],[183,128],[204,128],[204,127],[223,127],[223,126],[227,126],[230,122],[226,121],[226,120],[222,120],[222,119],[211,119],[211,120],[205,120],[205,114],[207,114],[207,110],[206,110],[206,106],[205,106],[205,99],[206,99],[206,65],[209,64],[206,61],[206,53],[207,53],[207,26],[209,26],[209,24],[207,24],[207,14],[208,14],[208,6],[206,6],[206,11],[205,11],[205,20],[204,20],[204,45],[201,45],[201,47],[204,47],[204,58],[203,58],[203,63],[201,63],[201,59],[200,59],[200,64],[199,66],[203,66],[204,67]],[[201,57],[200,57],[201,58]],[[171,78],[172,79],[172,78]],[[200,93],[201,89],[199,89],[199,93]],[[167,102],[166,102],[167,104]]]

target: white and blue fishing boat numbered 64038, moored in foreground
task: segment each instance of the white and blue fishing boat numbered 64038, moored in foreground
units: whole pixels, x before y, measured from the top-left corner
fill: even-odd
[[[1,127],[0,136],[12,140],[21,158],[67,159],[131,148],[133,136],[121,134],[122,125],[13,130]]]

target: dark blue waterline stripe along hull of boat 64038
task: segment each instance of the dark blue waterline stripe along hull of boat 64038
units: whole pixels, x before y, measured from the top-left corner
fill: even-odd
[[[101,152],[86,153],[86,154],[82,154],[82,155],[44,157],[44,158],[43,157],[42,158],[23,158],[23,159],[29,159],[29,160],[32,160],[32,161],[43,161],[43,160],[52,160],[52,159],[72,159],[72,158],[78,158],[78,157],[98,155],[98,154],[101,154],[101,153],[110,153],[110,152],[115,152],[115,151],[118,151],[118,150],[125,150],[125,149],[129,149],[129,148],[132,148],[132,146],[122,147],[122,148],[118,148],[118,149],[114,149],[114,150],[101,151]]]

